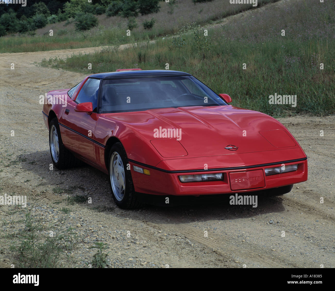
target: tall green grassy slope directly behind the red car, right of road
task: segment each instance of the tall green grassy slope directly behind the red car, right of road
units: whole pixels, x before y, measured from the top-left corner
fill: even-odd
[[[164,69],[169,63],[170,70],[189,72],[214,92],[230,95],[231,105],[237,107],[275,117],[332,114],[335,112],[334,4],[319,5],[313,0],[290,3],[292,6],[276,9],[264,7],[222,27],[213,27],[208,37],[193,26],[193,33],[154,44],[147,42],[122,51],[106,49],[66,60],[44,60],[42,64],[88,74],[127,67]],[[268,19],[272,20],[270,24]],[[285,37],[281,36],[283,28]],[[92,63],[89,72],[83,69],[87,63]],[[320,63],[324,64],[323,70]],[[269,104],[269,96],[275,93],[297,95],[297,106]]]

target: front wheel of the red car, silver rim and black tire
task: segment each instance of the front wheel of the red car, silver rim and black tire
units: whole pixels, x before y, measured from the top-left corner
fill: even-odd
[[[127,154],[120,142],[111,148],[109,154],[109,184],[113,199],[123,209],[138,208],[141,199],[134,190]]]

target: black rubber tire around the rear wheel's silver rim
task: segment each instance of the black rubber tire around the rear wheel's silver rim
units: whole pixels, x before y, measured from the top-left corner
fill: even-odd
[[[51,147],[51,139],[52,139],[51,136],[52,136],[53,127],[56,128],[57,135],[58,135],[59,156],[58,156],[57,161],[55,161],[55,158],[53,157],[52,147]],[[77,166],[81,166],[84,164],[82,161],[79,161],[77,158],[75,158],[73,154],[64,147],[57,118],[53,118],[50,121],[49,148],[50,148],[50,155],[51,155],[52,162],[58,170],[68,169],[71,167],[77,167]]]

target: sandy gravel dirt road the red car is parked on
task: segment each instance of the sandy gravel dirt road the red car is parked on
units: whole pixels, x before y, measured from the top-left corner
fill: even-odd
[[[86,267],[94,254],[88,247],[103,241],[112,268],[335,267],[334,116],[280,119],[308,156],[309,179],[284,196],[259,196],[257,208],[231,206],[220,196],[123,211],[110,199],[107,176],[96,169],[49,170],[39,96],[69,88],[84,75],[38,63],[99,49],[0,54],[0,195],[27,195],[29,203],[15,210],[0,206],[0,267],[16,264],[10,246],[19,244],[27,210],[46,230],[75,228],[80,240],[59,266]],[[75,195],[92,197],[92,203],[72,205],[66,198]]]

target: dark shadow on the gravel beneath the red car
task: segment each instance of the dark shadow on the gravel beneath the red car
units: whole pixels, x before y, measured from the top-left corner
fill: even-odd
[[[26,171],[27,176],[43,181],[43,183],[32,186],[37,193],[43,188],[47,192],[59,195],[59,199],[61,194],[55,193],[55,189],[58,187],[63,189],[68,195],[92,197],[92,204],[83,204],[87,208],[93,208],[105,213],[118,212],[121,215],[125,213],[116,207],[111,199],[108,175],[94,167],[87,165],[67,170],[58,170],[53,167],[53,170],[50,170],[52,161],[49,151],[23,154],[21,157],[26,158],[25,162],[21,162],[21,166]],[[43,184],[43,186],[38,186],[39,184]],[[69,189],[71,191],[66,191]],[[127,210],[126,215],[136,220],[178,224],[194,222],[195,220],[252,218],[260,214],[278,213],[285,210],[280,196],[271,196],[269,193],[262,191],[239,193],[239,195],[257,195],[257,207],[253,207],[253,205],[231,205],[231,195],[200,195],[195,197],[144,194],[146,204],[140,211]],[[166,203],[166,197],[169,197],[169,203]]]

